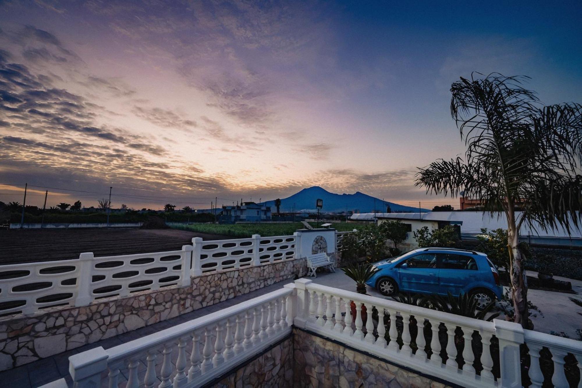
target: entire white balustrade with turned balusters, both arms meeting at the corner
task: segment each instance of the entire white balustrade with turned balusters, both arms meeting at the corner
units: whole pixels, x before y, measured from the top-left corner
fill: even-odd
[[[355,319],[350,313],[352,303]],[[365,324],[363,306],[367,309]],[[377,319],[372,319],[372,311]],[[464,318],[302,278],[279,291],[129,343],[73,355],[69,371],[76,388],[117,388],[120,375],[129,388],[199,387],[261,354],[287,336],[293,325],[432,379],[465,387],[520,387],[523,344],[531,358],[531,387],[541,387],[544,379],[555,387],[569,387],[564,365],[567,354],[577,360],[570,367],[582,368],[580,341],[523,330],[513,322]],[[441,345],[443,339],[445,346]],[[498,347],[491,346],[494,339]],[[542,348],[551,352],[552,376],[541,373]],[[175,363],[173,352],[178,352]],[[495,373],[494,358],[499,360]],[[160,363],[161,369],[156,368]],[[582,386],[580,381],[572,383]],[[66,382],[61,379],[46,387],[66,387]]]

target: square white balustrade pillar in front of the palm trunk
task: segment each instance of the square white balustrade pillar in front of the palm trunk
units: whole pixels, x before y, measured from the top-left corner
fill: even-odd
[[[499,339],[501,387],[521,387],[519,345],[523,344],[523,327],[519,323],[494,319],[495,337]]]

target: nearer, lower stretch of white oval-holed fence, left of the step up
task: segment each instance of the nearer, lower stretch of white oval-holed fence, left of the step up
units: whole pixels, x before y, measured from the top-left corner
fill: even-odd
[[[0,266],[0,314],[51,306],[86,306],[95,299],[129,296],[169,285],[190,285],[192,246],[180,251],[104,256]]]

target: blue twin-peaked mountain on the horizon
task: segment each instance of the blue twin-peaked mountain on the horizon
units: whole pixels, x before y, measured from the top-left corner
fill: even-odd
[[[375,210],[379,212],[386,211],[386,206],[390,205],[390,209],[393,212],[418,212],[418,207],[404,206],[398,203],[384,201],[382,205],[382,200],[374,198],[370,195],[356,192],[354,194],[336,194],[330,193],[329,191],[322,189],[320,186],[313,186],[307,189],[303,189],[298,193],[293,194],[290,197],[281,199],[281,212],[288,212],[293,209],[293,204],[295,205],[295,211],[317,211],[315,209],[315,200],[324,200],[324,207],[321,209],[323,213],[340,213],[342,211],[358,210],[360,213],[371,213],[374,211],[374,200],[375,200]],[[276,211],[275,201],[265,202],[267,206],[271,206],[273,213]],[[430,211],[428,209],[421,209],[421,211]]]

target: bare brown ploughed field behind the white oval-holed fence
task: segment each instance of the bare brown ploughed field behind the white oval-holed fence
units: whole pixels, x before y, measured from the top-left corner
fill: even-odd
[[[79,258],[81,252],[95,256],[175,251],[191,244],[193,237],[226,239],[174,229],[68,229],[0,231],[0,264],[16,264]]]

